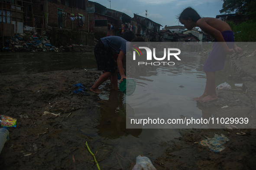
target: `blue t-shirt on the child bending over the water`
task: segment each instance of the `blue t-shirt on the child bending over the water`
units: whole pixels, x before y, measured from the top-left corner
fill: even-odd
[[[104,38],[100,38],[100,40],[103,42],[105,47],[110,48],[110,50],[113,52],[113,54],[119,54],[120,50],[123,51],[124,54],[126,54],[126,48],[127,51],[130,49],[129,43],[126,45],[125,39],[119,36],[108,36]]]

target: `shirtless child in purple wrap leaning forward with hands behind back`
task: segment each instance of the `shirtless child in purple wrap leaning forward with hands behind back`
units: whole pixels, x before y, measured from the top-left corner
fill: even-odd
[[[183,10],[178,19],[186,29],[192,30],[194,27],[199,27],[203,32],[215,38],[211,53],[204,64],[203,70],[206,73],[204,93],[202,96],[194,98],[194,100],[199,102],[216,101],[218,97],[215,90],[215,71],[224,68],[227,54],[232,55],[235,51],[240,52],[241,48],[235,44],[233,32],[227,22],[216,18],[201,18],[191,7]]]

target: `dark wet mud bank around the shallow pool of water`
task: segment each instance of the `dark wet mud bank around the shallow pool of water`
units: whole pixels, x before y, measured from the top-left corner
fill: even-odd
[[[218,101],[197,103],[203,117],[231,117],[240,113],[255,115],[256,84],[255,81],[244,81],[243,78],[250,75],[255,80],[254,58],[253,55],[229,61],[236,70],[230,78],[243,83],[243,90],[217,90]],[[120,163],[116,159],[106,164],[106,160],[116,154],[116,144],[104,143],[97,137],[95,127],[103,116],[99,96],[88,91],[90,96],[73,94],[76,88],[72,84],[82,83],[85,88],[89,88],[100,74],[100,71],[94,70],[69,70],[1,76],[0,114],[16,118],[17,127],[9,128],[10,141],[0,154],[0,169],[96,170],[96,165],[91,161],[93,158],[84,144],[86,141],[94,154],[97,152],[101,169],[121,169],[120,164],[123,169],[132,169],[133,164],[129,161],[135,163],[138,155],[134,155],[133,160],[125,160],[117,154]],[[223,106],[229,107],[221,109]],[[250,117],[250,120],[253,119],[255,117]],[[125,129],[124,120],[121,117],[113,120],[115,124],[119,122],[117,135],[131,134],[136,138],[140,132]],[[101,134],[107,133],[104,127],[101,129]],[[152,155],[145,155],[151,158],[157,170],[249,170],[256,166],[254,129],[228,127],[180,129],[178,132],[180,137],[159,143],[167,148],[162,156],[152,159]],[[214,134],[224,134],[230,140],[219,153],[194,143],[206,139],[205,137],[212,138]],[[126,158],[126,155],[121,156]]]

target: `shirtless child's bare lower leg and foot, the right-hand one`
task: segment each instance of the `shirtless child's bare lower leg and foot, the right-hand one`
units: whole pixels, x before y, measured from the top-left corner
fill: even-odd
[[[215,72],[205,72],[206,73],[206,86],[204,94],[199,99],[200,102],[211,102],[218,99],[215,90]]]

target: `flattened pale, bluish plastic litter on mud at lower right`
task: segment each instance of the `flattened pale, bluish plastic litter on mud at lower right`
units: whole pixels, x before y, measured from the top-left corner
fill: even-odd
[[[205,138],[207,138],[207,137],[205,137]],[[199,143],[202,146],[209,147],[209,149],[213,152],[220,152],[225,149],[225,147],[222,146],[222,144],[226,143],[226,141],[229,141],[229,139],[225,135],[221,134],[219,136],[219,135],[215,134],[214,138],[207,138],[207,139],[204,139],[203,141],[200,141]],[[198,142],[196,142],[196,143],[198,143]]]

